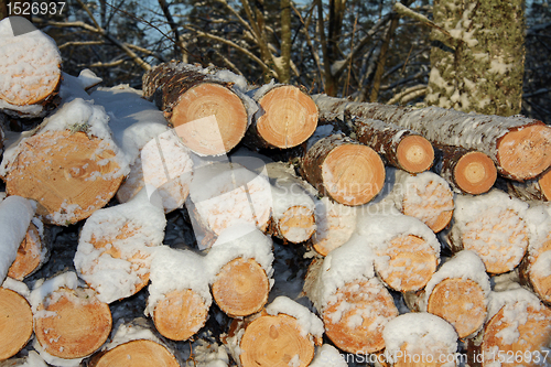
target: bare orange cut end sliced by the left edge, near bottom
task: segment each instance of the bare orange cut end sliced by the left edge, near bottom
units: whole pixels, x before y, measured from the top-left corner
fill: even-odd
[[[26,300],[0,288],[0,360],[21,350],[33,333],[33,314]]]

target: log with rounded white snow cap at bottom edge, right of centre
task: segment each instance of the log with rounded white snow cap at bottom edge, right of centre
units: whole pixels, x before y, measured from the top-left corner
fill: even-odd
[[[388,366],[457,366],[457,333],[430,313],[407,313],[391,320],[382,333]],[[449,359],[451,358],[452,359]]]

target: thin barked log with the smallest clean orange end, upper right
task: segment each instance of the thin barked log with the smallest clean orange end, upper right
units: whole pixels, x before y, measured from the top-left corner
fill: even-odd
[[[410,173],[431,168],[434,149],[418,132],[393,123],[348,115],[347,111],[345,118],[350,120],[356,140],[372,148],[385,158],[387,164]]]

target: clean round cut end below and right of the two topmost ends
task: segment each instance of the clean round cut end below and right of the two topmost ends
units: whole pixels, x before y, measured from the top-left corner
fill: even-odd
[[[322,166],[325,190],[336,202],[363,205],[372,199],[385,184],[385,164],[371,148],[360,144],[339,145]]]

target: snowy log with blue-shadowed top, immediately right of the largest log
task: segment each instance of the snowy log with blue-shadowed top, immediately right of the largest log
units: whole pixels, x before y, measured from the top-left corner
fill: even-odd
[[[193,162],[163,114],[128,86],[99,88],[91,98],[109,114],[115,141],[130,164],[117,191],[119,202],[128,202],[147,187],[159,192],[165,213],[182,207],[190,193]]]

